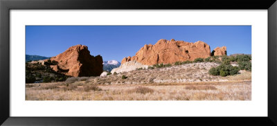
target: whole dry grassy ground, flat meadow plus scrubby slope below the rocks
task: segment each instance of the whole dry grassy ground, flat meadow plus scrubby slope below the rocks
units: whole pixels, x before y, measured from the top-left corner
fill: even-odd
[[[26,84],[26,100],[251,100],[251,72],[209,75],[208,69],[217,65],[194,63]]]

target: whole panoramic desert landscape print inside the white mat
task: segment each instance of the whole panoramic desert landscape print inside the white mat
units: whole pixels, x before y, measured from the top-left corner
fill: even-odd
[[[251,26],[26,26],[26,100],[251,100]]]

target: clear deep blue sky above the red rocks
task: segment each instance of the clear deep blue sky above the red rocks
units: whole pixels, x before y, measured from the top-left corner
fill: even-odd
[[[26,26],[26,54],[52,57],[82,44],[91,55],[121,62],[159,39],[203,41],[211,51],[226,46],[228,55],[251,54],[251,26]]]

